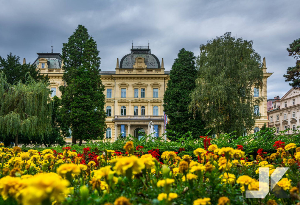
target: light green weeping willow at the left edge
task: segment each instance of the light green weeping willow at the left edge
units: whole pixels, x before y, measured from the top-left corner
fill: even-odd
[[[26,83],[7,83],[0,71],[0,135],[13,138],[18,146],[18,137],[41,137],[51,132],[50,90],[44,81],[36,82],[27,76]]]

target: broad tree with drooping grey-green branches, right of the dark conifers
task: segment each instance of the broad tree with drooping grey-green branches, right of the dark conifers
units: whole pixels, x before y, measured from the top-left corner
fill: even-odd
[[[263,100],[253,98],[252,86],[263,86],[263,71],[252,41],[225,33],[200,45],[197,65],[190,109],[199,111],[206,127],[217,135],[236,131],[239,136],[252,130],[259,118],[254,107]]]

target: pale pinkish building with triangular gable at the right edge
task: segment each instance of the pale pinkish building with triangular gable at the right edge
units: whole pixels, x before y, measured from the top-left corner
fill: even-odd
[[[286,131],[288,134],[297,130],[300,122],[300,91],[290,89],[280,100],[273,102],[273,108],[268,111],[269,127],[275,127],[275,134],[280,134],[280,131]]]

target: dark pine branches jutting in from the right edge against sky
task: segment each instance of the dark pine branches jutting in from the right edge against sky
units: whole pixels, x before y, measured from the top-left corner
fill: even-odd
[[[300,38],[294,40],[291,44],[289,44],[289,48],[286,49],[289,52],[289,56],[293,56],[298,59],[300,57]],[[288,67],[286,74],[283,75],[285,77],[286,82],[290,82],[293,88],[300,88],[300,61],[296,61],[296,66]]]

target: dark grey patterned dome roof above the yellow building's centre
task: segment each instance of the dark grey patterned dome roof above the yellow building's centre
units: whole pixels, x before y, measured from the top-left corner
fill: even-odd
[[[131,53],[125,55],[120,62],[120,69],[133,68],[135,64],[135,58],[145,58],[145,64],[147,68],[161,68],[161,63],[158,58],[151,53],[151,49],[148,46],[132,46]]]

